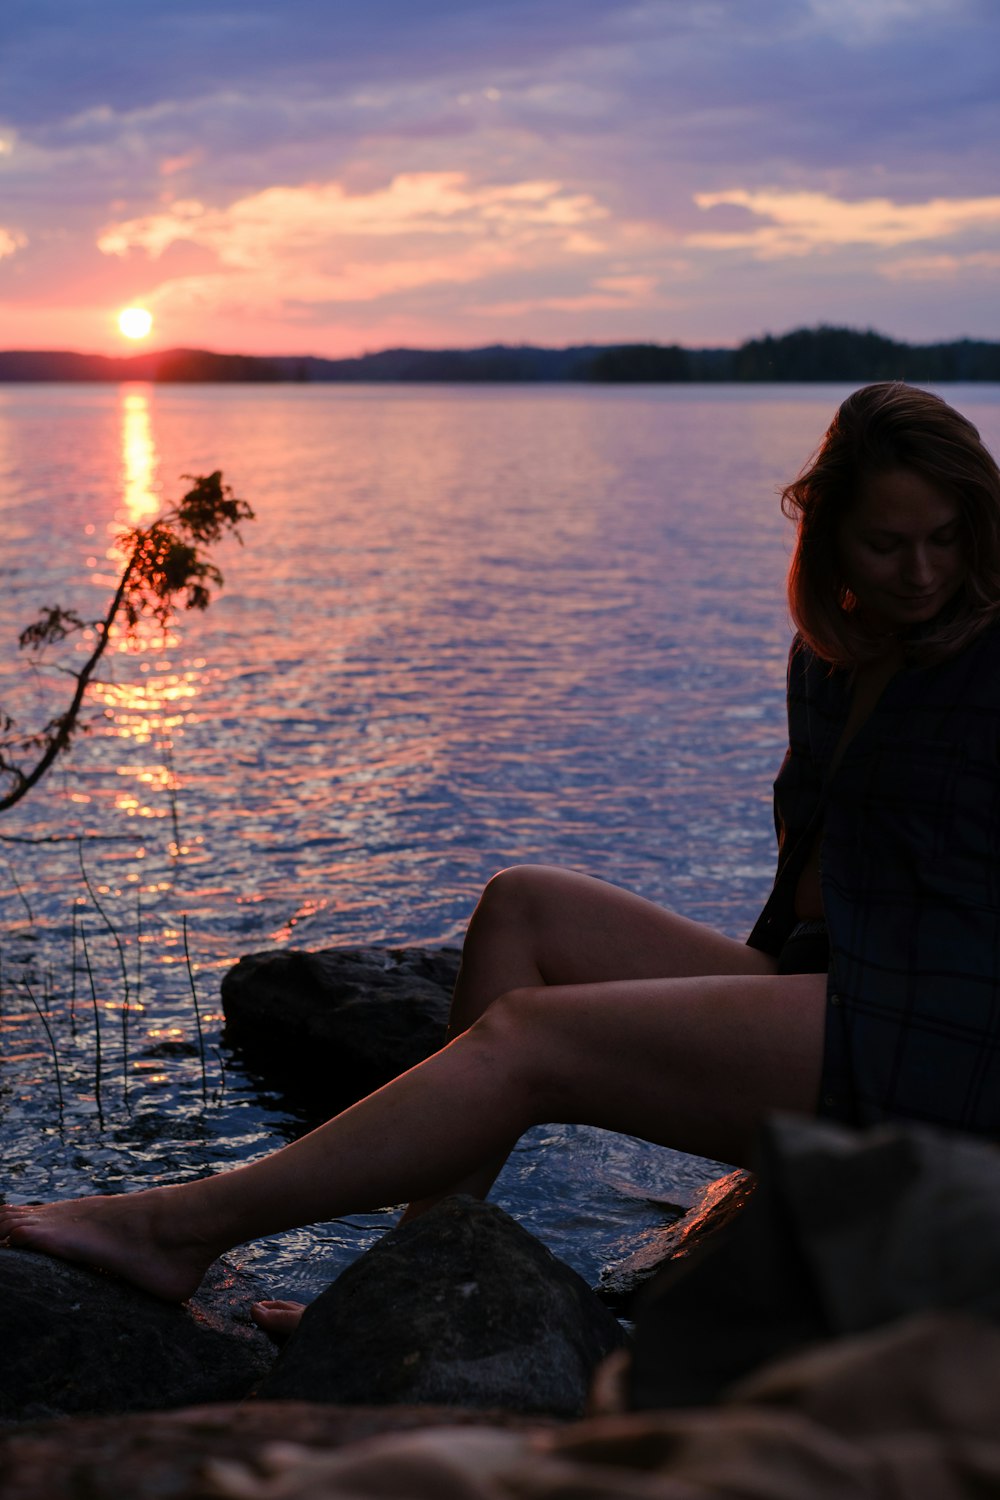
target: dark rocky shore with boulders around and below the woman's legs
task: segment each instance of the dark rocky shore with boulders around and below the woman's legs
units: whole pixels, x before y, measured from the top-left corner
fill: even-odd
[[[457,960],[255,954],[223,981],[228,1036],[330,1113],[439,1046]],[[712,1184],[595,1288],[450,1198],[280,1353],[249,1318],[265,1288],[225,1262],[175,1308],[4,1248],[0,1494],[997,1492],[999,1263],[993,1146],[781,1119],[756,1179]]]

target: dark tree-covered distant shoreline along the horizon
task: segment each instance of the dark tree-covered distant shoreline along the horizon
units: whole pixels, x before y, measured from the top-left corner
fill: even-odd
[[[0,382],[153,381],[156,384],[729,384],[879,380],[1000,381],[1000,342],[901,344],[873,330],[795,328],[739,348],[679,344],[495,344],[480,350],[382,350],[357,358],[160,350],[132,356],[10,350]]]

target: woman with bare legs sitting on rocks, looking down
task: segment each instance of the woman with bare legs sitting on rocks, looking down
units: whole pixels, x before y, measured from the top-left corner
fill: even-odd
[[[508,870],[433,1058],[262,1161],[0,1209],[0,1234],[183,1299],[243,1240],[483,1194],[541,1120],[730,1162],[772,1110],[1000,1136],[997,465],[936,396],[870,386],[784,506],[790,747],[748,944],[582,874]]]

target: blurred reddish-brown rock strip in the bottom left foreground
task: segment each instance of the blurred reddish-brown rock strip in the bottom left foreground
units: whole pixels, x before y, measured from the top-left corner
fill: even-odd
[[[553,1424],[454,1407],[331,1407],[249,1401],[121,1418],[64,1418],[0,1428],[3,1500],[205,1500],[208,1466],[256,1467],[262,1450],[295,1444],[331,1454],[385,1432],[469,1426],[541,1431]],[[216,1492],[214,1488],[211,1492]]]

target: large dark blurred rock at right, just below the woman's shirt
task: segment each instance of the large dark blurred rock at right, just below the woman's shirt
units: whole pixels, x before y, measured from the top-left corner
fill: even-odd
[[[691,1406],[768,1359],[928,1308],[1000,1320],[1000,1152],[916,1125],[775,1118],[757,1188],[636,1312],[630,1406]]]

